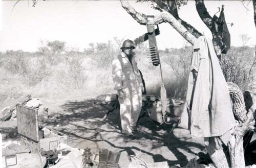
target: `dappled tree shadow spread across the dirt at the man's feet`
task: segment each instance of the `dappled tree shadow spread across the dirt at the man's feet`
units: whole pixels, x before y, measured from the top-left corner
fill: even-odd
[[[84,147],[83,145],[93,142],[95,148],[111,147],[127,155],[136,155],[139,151],[143,155],[151,156],[154,162],[167,161],[172,165],[184,166],[189,159],[187,154],[197,155],[204,149],[202,143],[193,142],[188,138],[188,132],[184,133],[184,136],[168,134],[172,127],[169,125],[157,127],[147,116],[140,117],[139,131],[135,136],[126,137],[120,132],[119,110],[109,113],[104,121],[102,118],[108,109],[95,102],[97,101],[67,102],[60,106],[61,110],[58,113],[41,125],[51,126],[67,134],[69,144],[72,145],[81,143],[80,147]]]

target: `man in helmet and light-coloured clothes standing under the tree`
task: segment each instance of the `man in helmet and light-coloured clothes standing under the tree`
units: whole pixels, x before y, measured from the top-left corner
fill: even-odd
[[[125,40],[121,47],[122,53],[112,62],[114,89],[118,91],[120,104],[122,133],[126,136],[132,136],[132,132],[137,131],[136,125],[144,91],[133,49],[135,49],[134,42]]]

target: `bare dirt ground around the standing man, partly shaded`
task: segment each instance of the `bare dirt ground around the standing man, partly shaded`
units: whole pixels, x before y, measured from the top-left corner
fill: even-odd
[[[50,119],[39,123],[41,126],[52,127],[69,136],[68,145],[74,148],[89,147],[93,152],[100,148],[121,152],[119,164],[127,167],[129,155],[136,155],[146,162],[167,161],[169,165],[184,166],[204,149],[203,139],[191,138],[184,129],[158,125],[148,116],[143,116],[138,122],[138,132],[133,137],[125,137],[120,132],[120,115],[116,110],[111,112],[105,121],[102,117],[108,111],[95,100],[44,100],[49,107]],[[1,108],[10,105],[15,100],[3,101]],[[17,139],[16,120],[0,122],[0,132],[7,139]]]

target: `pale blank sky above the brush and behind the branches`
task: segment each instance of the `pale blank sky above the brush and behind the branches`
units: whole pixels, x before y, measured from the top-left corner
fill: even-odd
[[[146,33],[146,26],[139,25],[122,7],[119,1],[38,1],[32,7],[32,1],[0,1],[0,51],[23,50],[35,52],[40,40],[61,40],[69,47],[83,51],[91,42],[107,42],[118,39],[132,39]],[[129,1],[139,12],[155,14],[148,3]],[[241,1],[205,1],[211,16],[218,7],[225,5],[224,14],[231,35],[231,45],[241,46],[241,34],[251,39],[247,45],[254,46],[256,33],[253,20],[252,2]],[[220,12],[217,13],[219,16]],[[208,28],[201,21],[194,1],[179,10],[180,18],[190,23],[205,36],[212,38]],[[159,25],[158,48],[180,48],[186,42],[168,23]]]

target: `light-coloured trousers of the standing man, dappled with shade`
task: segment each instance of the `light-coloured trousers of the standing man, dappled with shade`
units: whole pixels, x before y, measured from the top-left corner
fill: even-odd
[[[122,131],[132,132],[131,126],[137,125],[142,106],[141,91],[131,97],[118,97]]]

